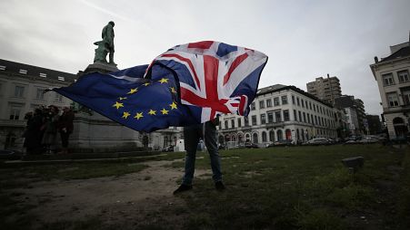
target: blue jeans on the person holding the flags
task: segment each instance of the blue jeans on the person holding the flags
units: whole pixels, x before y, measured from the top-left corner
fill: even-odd
[[[204,130],[205,128],[205,130]],[[205,136],[205,137],[204,137]],[[200,138],[205,138],[205,146],[211,158],[211,168],[215,182],[222,181],[221,158],[219,158],[218,146],[216,143],[216,127],[211,121],[205,124],[198,124],[184,128],[185,139],[185,174],[182,183],[192,185],[195,173],[196,148]]]

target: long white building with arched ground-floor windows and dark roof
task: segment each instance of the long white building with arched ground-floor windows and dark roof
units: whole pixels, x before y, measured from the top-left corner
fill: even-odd
[[[220,117],[220,143],[264,145],[284,139],[300,143],[337,137],[334,108],[295,86],[276,84],[258,90],[250,109],[248,117]]]

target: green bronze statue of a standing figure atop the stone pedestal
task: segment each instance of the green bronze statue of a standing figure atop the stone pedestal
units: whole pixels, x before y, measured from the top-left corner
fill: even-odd
[[[111,21],[103,28],[102,38],[103,41],[95,42],[98,47],[95,49],[94,62],[106,62],[106,54],[109,54],[109,63],[114,62],[114,22]]]

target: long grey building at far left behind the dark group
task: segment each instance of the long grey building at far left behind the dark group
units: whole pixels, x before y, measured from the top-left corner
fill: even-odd
[[[0,59],[0,149],[23,146],[25,113],[41,106],[69,106],[71,101],[45,89],[73,83],[75,74]]]

